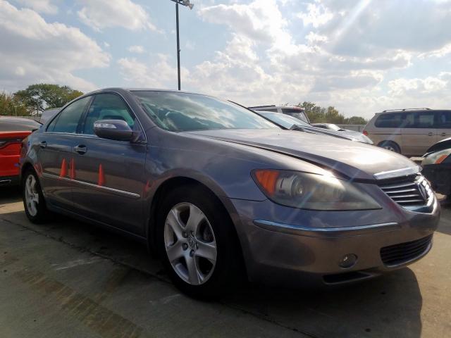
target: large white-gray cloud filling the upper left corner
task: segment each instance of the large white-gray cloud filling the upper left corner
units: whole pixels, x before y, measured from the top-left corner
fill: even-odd
[[[78,28],[47,23],[30,9],[0,0],[0,88],[17,90],[36,82],[68,84],[90,90],[95,85],[75,70],[106,67],[109,54]]]

